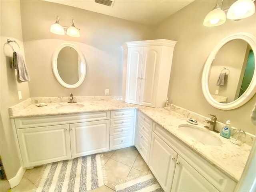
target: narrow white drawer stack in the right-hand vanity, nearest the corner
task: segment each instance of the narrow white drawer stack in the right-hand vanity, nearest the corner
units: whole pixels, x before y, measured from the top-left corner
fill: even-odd
[[[142,112],[138,112],[135,146],[148,164],[153,121]]]

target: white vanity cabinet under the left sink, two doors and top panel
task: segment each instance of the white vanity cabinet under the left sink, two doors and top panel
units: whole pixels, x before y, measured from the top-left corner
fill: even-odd
[[[14,119],[23,167],[109,150],[110,112]]]

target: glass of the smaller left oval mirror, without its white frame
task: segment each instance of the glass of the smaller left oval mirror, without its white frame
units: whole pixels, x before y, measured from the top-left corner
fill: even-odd
[[[57,69],[60,78],[66,84],[76,84],[82,75],[81,58],[72,47],[64,47],[60,50],[57,58]]]

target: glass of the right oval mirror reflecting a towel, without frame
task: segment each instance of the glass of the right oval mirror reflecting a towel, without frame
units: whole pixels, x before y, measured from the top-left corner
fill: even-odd
[[[250,45],[236,39],[226,43],[212,61],[208,75],[208,89],[216,102],[230,103],[248,88],[255,68]]]

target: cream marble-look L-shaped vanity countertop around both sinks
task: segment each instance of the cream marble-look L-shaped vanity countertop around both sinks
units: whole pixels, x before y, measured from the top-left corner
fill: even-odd
[[[186,117],[178,114],[174,111],[168,111],[164,108],[151,108],[146,106],[139,106],[134,104],[128,104],[121,100],[104,100],[104,101],[90,101],[90,102],[78,102],[78,104],[84,104],[84,107],[74,110],[60,110],[56,109],[56,106],[60,106],[58,103],[46,103],[47,106],[38,107],[36,104],[30,104],[18,112],[11,113],[10,118],[22,118],[22,117],[34,117],[34,116],[48,116],[48,115],[60,115],[60,114],[75,114],[83,112],[98,112],[98,111],[111,111],[118,109],[137,108],[154,122],[164,127],[170,134],[178,138],[182,143],[186,144],[189,148],[194,150],[197,154],[202,156],[216,168],[228,175],[232,180],[238,182],[247,158],[249,156],[251,146],[242,144],[240,146],[232,144],[230,140],[219,136],[222,141],[222,146],[210,146],[205,145],[196,140],[193,140],[189,136],[182,134],[178,129],[178,125],[187,124]],[[10,109],[11,110],[11,109]],[[16,110],[17,111],[17,110]],[[203,124],[198,124],[204,126]],[[233,139],[233,138],[230,138]]]

